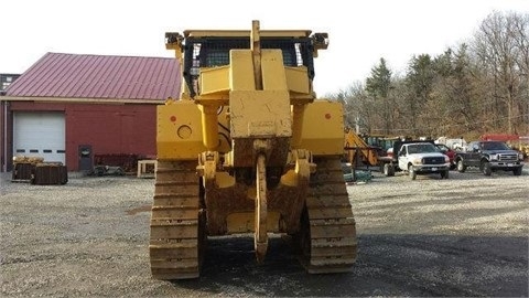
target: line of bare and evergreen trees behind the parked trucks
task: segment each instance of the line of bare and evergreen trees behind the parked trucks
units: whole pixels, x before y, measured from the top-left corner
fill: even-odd
[[[467,43],[413,55],[396,75],[384,57],[333,94],[361,134],[477,138],[529,135],[529,14],[492,12]]]

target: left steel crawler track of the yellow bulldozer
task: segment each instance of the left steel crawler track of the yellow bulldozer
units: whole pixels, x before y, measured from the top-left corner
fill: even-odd
[[[205,220],[195,161],[158,161],[149,253],[152,277],[197,278]]]

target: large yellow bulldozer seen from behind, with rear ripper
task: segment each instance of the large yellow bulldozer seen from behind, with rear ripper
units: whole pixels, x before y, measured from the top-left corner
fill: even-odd
[[[183,77],[158,107],[150,223],[151,273],[199,277],[208,237],[288,238],[311,274],[347,272],[355,220],[341,168],[341,104],[316,99],[314,61],[328,45],[310,30],[165,33]]]

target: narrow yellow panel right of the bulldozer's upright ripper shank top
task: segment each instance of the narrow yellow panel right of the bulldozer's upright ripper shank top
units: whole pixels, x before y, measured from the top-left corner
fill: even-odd
[[[285,91],[283,55],[281,50],[261,50],[262,88],[268,91]]]

